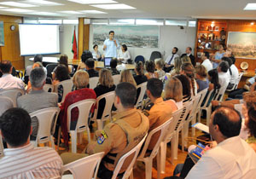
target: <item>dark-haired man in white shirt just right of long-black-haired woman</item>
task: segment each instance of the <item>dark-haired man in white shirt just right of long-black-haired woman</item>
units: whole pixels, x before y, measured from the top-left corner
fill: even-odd
[[[218,64],[218,83],[220,84],[220,87],[227,87],[230,83],[230,74],[228,72],[229,68],[230,66],[227,61],[221,61]]]

